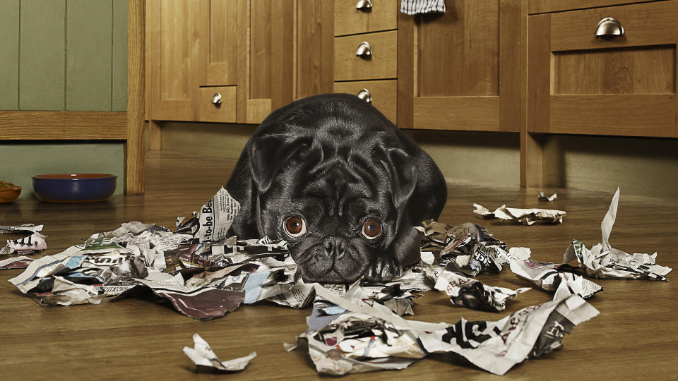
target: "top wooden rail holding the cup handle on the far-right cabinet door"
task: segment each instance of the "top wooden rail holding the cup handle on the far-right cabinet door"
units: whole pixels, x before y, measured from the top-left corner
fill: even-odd
[[[624,35],[610,40],[595,38],[596,25],[606,17],[617,18],[624,27]],[[551,16],[551,50],[675,44],[677,18],[678,1],[554,13]]]

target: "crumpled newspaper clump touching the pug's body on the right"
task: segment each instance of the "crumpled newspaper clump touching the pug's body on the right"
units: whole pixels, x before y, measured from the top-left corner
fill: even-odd
[[[416,229],[422,232],[422,250],[439,249],[439,260],[434,263],[448,270],[475,277],[482,272],[500,272],[509,263],[506,243],[484,226],[471,222],[450,226],[431,219]]]

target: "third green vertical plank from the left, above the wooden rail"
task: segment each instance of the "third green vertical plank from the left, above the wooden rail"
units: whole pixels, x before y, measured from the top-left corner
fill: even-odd
[[[66,110],[110,111],[112,0],[66,4]]]

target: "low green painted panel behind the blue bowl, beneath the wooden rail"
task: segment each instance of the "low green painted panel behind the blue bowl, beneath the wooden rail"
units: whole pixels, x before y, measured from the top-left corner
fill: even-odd
[[[123,143],[1,143],[0,150],[11,158],[2,166],[0,180],[22,186],[20,197],[32,197],[31,176],[69,172],[114,174],[114,194],[124,193]]]

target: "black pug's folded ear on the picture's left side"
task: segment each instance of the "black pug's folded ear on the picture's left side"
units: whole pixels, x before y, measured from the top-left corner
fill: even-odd
[[[275,174],[300,147],[283,134],[259,136],[247,145],[252,179],[259,193],[268,191]]]

